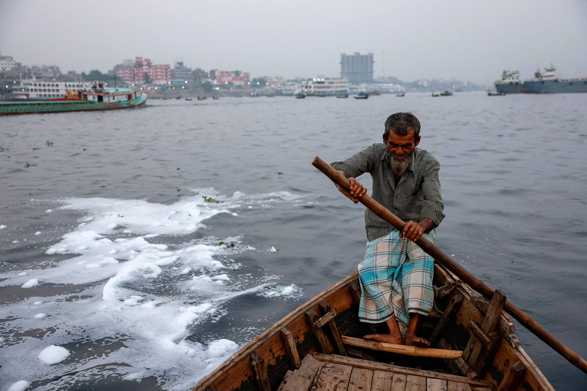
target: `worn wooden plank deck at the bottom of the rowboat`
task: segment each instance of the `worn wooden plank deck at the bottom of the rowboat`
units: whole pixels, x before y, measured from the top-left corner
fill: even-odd
[[[289,370],[278,391],[490,391],[486,380],[315,353]]]

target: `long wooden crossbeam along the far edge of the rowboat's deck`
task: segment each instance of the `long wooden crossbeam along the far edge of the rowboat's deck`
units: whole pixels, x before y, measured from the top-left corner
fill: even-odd
[[[475,386],[491,387],[493,383],[488,380],[469,379],[464,376],[450,375],[448,373],[434,372],[432,370],[406,368],[404,366],[386,364],[383,362],[367,361],[359,358],[345,357],[339,355],[326,355],[314,353],[313,358],[318,361],[332,362],[343,365],[351,365],[354,368],[365,368],[370,370],[384,370],[387,372],[400,373],[401,375],[423,376],[424,378],[437,378],[444,380],[454,380],[455,382],[468,383]],[[375,377],[375,374],[373,375]]]

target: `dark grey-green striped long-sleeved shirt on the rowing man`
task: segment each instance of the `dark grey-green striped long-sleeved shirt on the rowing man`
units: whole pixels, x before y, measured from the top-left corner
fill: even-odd
[[[414,147],[410,164],[396,186],[388,156],[386,146],[377,143],[345,161],[332,162],[330,165],[344,171],[347,178],[357,178],[369,172],[373,178],[372,198],[400,219],[419,222],[428,218],[436,226],[440,225],[444,219],[444,203],[438,180],[440,164],[436,158],[424,149]],[[391,232],[393,226],[366,209],[365,229],[370,242]]]

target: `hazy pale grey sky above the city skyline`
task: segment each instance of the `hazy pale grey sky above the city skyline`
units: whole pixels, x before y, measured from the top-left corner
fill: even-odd
[[[3,55],[63,72],[143,56],[253,77],[335,77],[340,53],[373,52],[375,76],[384,65],[404,80],[487,83],[503,69],[526,79],[551,62],[561,76],[587,77],[583,0],[0,0],[0,19]]]

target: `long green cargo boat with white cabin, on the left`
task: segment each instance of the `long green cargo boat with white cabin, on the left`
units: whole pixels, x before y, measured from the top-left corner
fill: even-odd
[[[147,94],[129,88],[102,88],[68,92],[60,99],[0,103],[0,115],[63,113],[65,111],[116,110],[140,107]]]

